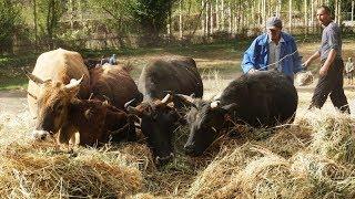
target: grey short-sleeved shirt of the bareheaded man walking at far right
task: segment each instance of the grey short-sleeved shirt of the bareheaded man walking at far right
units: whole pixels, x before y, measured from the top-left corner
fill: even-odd
[[[333,21],[326,25],[322,32],[322,43],[318,50],[321,54],[321,61],[325,61],[328,57],[329,51],[334,49],[336,51],[336,57],[342,57],[342,38],[341,29]]]

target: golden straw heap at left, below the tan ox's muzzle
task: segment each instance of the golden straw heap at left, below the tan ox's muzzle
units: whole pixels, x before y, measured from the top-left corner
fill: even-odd
[[[6,118],[6,117],[3,117]],[[7,119],[0,135],[0,195],[10,198],[122,198],[138,192],[143,178],[140,165],[146,165],[136,147],[135,156],[111,146],[100,149],[58,149],[53,142],[32,143],[27,126],[17,118]],[[2,121],[3,122],[3,121]],[[19,134],[21,133],[21,134]],[[141,150],[141,151],[139,151]],[[143,156],[148,156],[144,154]]]

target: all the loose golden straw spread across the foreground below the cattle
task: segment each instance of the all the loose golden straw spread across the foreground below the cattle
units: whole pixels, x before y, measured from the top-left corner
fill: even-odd
[[[293,125],[242,129],[199,158],[182,153],[156,168],[140,143],[55,148],[31,143],[26,114],[1,116],[0,195],[8,198],[355,198],[355,121],[328,111],[298,112]]]

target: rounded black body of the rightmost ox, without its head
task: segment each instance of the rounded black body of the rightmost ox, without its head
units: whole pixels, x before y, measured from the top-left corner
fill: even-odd
[[[242,75],[223,91],[221,106],[235,103],[231,116],[254,127],[275,126],[291,118],[297,108],[294,85],[277,71]]]

